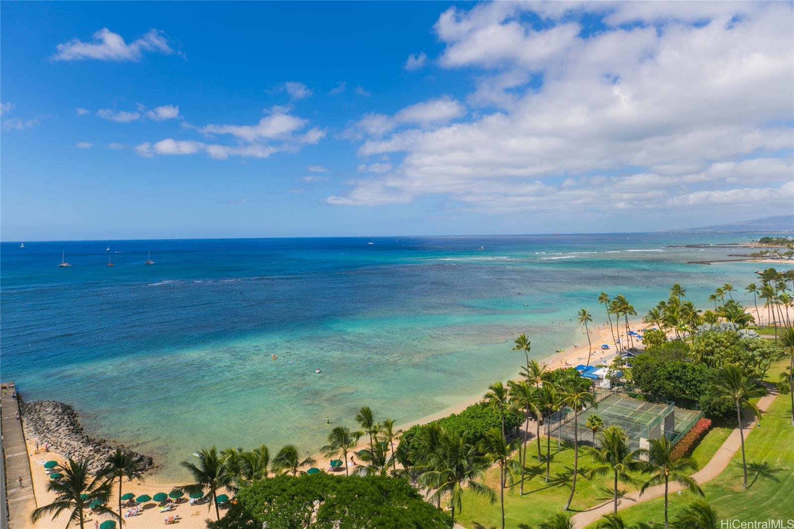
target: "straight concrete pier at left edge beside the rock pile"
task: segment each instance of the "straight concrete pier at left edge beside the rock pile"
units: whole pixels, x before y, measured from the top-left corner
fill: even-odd
[[[36,497],[33,495],[33,480],[30,476],[30,463],[28,448],[25,446],[25,434],[22,432],[22,421],[17,419],[19,404],[11,398],[15,387],[13,382],[4,382],[6,395],[0,391],[0,404],[2,404],[2,431],[3,452],[6,455],[6,495],[8,497],[9,527],[25,527],[30,519],[30,513],[37,508]],[[22,487],[18,478],[22,478]]]

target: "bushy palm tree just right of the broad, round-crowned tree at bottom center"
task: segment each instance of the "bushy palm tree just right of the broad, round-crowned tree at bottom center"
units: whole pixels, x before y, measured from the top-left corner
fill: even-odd
[[[444,431],[435,450],[427,454],[427,460],[420,467],[423,470],[419,484],[434,488],[431,498],[441,500],[449,496],[452,519],[455,511],[463,508],[463,494],[468,490],[485,496],[491,503],[496,494],[482,481],[485,476],[484,462],[476,454],[474,446],[469,445],[457,431]]]

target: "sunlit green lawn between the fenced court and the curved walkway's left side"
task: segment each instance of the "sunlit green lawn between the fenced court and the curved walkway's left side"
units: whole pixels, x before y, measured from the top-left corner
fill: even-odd
[[[545,437],[542,438],[543,453],[545,454]],[[573,470],[573,446],[563,443],[561,451],[555,454],[556,441],[552,440],[552,464],[549,483],[545,483],[545,465],[538,463],[538,452],[534,444],[528,445],[526,465],[530,473],[525,477],[524,495],[518,493],[518,486],[513,490],[505,489],[504,511],[505,527],[537,527],[550,515],[562,512],[566,500],[571,492],[570,482]],[[533,457],[534,456],[534,457]],[[592,466],[589,455],[583,454],[580,449],[579,476],[576,478],[576,494],[571,504],[572,512],[601,504],[611,499],[611,478],[596,477],[588,480],[584,472]],[[494,488],[499,495],[499,469],[488,471],[486,482]],[[632,492],[635,488],[631,485],[619,485],[621,492]],[[463,511],[456,513],[456,521],[467,529],[491,529],[502,527],[499,499],[495,504],[489,504],[480,496],[472,492],[465,492]]]

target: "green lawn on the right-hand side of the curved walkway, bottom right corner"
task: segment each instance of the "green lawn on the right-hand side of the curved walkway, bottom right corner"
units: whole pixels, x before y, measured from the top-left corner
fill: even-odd
[[[722,519],[794,519],[794,427],[789,413],[788,400],[778,396],[761,419],[761,427],[747,437],[746,490],[742,489],[741,451],[723,473],[703,485],[705,499]],[[694,499],[691,492],[671,495],[671,521]],[[620,514],[627,525],[653,522],[653,527],[659,527],[665,519],[664,500],[649,500]]]

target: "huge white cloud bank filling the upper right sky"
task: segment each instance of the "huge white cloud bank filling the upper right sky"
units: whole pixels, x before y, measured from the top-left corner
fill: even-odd
[[[785,201],[790,210],[792,12],[733,2],[450,8],[434,26],[439,64],[472,75],[466,101],[484,110],[431,100],[364,115],[345,133],[358,154],[401,161],[326,202],[444,195],[488,211]],[[593,16],[606,27],[583,32]]]

